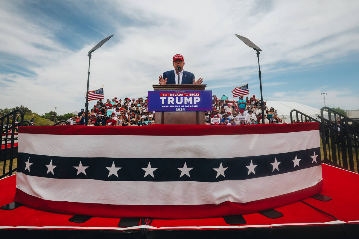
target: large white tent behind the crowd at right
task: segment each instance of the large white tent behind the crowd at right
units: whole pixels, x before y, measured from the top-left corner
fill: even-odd
[[[290,122],[290,111],[291,110],[298,110],[308,116],[311,116],[314,119],[318,119],[318,116],[320,116],[320,110],[307,106],[307,105],[303,105],[297,102],[293,102],[293,101],[272,101],[272,100],[267,100],[267,107],[268,109],[270,107],[273,107],[278,114],[279,118],[282,118],[284,120],[284,123],[291,123]],[[302,119],[300,118],[300,114],[298,115],[299,120],[302,121]],[[296,119],[295,116],[295,112],[293,112],[293,120]],[[303,120],[305,120],[304,116],[303,116]]]

